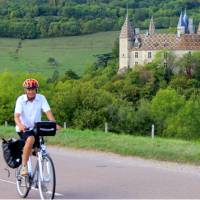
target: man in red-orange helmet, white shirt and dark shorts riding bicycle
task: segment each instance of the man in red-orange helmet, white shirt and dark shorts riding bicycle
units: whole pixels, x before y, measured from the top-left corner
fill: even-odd
[[[33,128],[35,122],[41,121],[42,112],[44,112],[50,121],[55,122],[50,106],[45,96],[38,94],[39,83],[36,79],[29,78],[23,82],[24,93],[16,101],[14,120],[16,132],[20,138],[25,140],[22,155],[22,168],[20,175],[28,175],[27,162],[33,147],[37,147],[38,138],[34,135]],[[61,127],[56,125],[57,129]],[[27,131],[27,129],[29,131]]]

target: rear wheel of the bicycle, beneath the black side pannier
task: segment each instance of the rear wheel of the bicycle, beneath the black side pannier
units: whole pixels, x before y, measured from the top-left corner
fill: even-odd
[[[29,177],[20,175],[20,169],[21,166],[16,169],[17,192],[21,198],[26,198],[31,189],[31,186],[29,182]]]

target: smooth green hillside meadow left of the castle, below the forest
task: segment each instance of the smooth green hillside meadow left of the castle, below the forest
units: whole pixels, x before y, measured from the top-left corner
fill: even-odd
[[[94,55],[111,52],[118,32],[102,32],[84,36],[23,40],[18,54],[18,39],[0,38],[0,71],[41,72],[51,76],[53,71],[72,69],[82,74],[95,61]],[[47,61],[53,57],[58,66]]]

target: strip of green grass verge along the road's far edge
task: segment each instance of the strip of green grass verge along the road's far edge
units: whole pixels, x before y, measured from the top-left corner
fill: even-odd
[[[0,137],[16,137],[13,127],[0,127]],[[146,159],[200,164],[200,142],[63,129],[48,144],[113,152]]]

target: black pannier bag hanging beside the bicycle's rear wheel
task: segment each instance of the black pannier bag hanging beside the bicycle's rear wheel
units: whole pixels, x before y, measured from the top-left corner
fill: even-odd
[[[17,168],[22,162],[22,151],[24,147],[24,141],[21,139],[2,139],[3,157],[6,164],[11,168]]]

